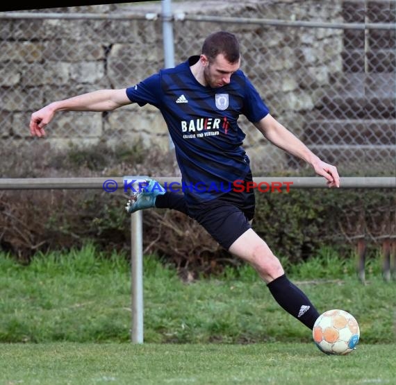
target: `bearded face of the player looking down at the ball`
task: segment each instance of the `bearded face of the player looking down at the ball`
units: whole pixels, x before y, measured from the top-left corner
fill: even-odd
[[[208,86],[212,88],[223,87],[229,84],[231,75],[240,67],[240,60],[230,63],[224,55],[220,53],[214,60],[209,61],[206,55],[201,55],[204,64],[204,77]]]

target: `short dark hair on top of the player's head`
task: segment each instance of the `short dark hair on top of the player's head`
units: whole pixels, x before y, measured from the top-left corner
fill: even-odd
[[[217,55],[222,53],[224,58],[230,63],[238,62],[240,58],[239,42],[236,35],[226,31],[211,33],[206,37],[202,46],[202,54],[208,59],[214,60]]]

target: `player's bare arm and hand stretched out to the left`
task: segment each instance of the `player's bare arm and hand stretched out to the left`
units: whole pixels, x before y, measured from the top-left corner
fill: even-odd
[[[126,96],[126,89],[100,89],[62,101],[55,101],[41,110],[33,112],[29,124],[31,135],[44,136],[44,127],[58,111],[113,111],[129,103],[131,100]]]

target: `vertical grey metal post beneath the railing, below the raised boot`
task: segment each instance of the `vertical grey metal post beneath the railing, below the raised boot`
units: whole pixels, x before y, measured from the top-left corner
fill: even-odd
[[[133,343],[143,343],[143,221],[142,212],[131,214],[131,277]]]

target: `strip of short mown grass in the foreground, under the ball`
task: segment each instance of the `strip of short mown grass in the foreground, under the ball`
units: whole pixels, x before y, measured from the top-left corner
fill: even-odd
[[[1,385],[395,384],[396,345],[327,356],[311,343],[2,344]]]

